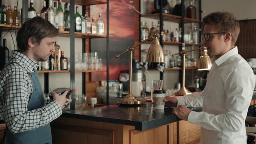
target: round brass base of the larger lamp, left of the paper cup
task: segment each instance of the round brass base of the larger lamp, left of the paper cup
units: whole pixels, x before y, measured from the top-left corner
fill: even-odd
[[[124,98],[118,100],[118,104],[124,106],[140,106],[141,101],[135,98],[131,93],[128,93]]]

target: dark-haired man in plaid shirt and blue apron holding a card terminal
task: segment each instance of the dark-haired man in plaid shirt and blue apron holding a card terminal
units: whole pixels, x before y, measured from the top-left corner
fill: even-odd
[[[51,144],[50,122],[71,102],[54,92],[53,101],[44,101],[36,69],[55,51],[58,30],[41,17],[27,20],[17,33],[19,51],[0,73],[0,116],[5,121],[7,144]],[[74,89],[72,90],[72,92]]]

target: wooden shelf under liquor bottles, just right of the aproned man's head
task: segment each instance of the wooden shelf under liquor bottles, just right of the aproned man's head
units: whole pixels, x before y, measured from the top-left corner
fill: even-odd
[[[69,31],[59,31],[59,35],[62,37],[69,37]],[[107,35],[96,35],[90,33],[79,33],[75,32],[75,38],[82,38],[82,39],[94,39],[94,38],[105,38]]]

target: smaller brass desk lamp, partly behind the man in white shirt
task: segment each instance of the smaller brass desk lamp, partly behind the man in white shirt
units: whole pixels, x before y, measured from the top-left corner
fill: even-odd
[[[174,53],[172,54],[172,56],[174,55],[179,55],[182,54],[183,55],[183,64],[182,64],[182,87],[178,92],[175,92],[175,95],[188,95],[191,94],[191,92],[189,90],[187,90],[187,88],[185,88],[185,56],[187,52],[192,52],[192,51],[196,51],[196,50],[203,50],[201,52],[201,56],[198,60],[197,63],[197,69],[198,71],[202,71],[202,70],[210,70],[212,63],[210,60],[210,56],[207,55],[207,48],[204,46],[201,46],[198,49],[193,49],[193,50],[182,50],[179,53]]]

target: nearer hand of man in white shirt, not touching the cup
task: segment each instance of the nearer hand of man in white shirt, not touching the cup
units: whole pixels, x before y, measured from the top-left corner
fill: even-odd
[[[191,109],[185,107],[184,105],[179,105],[178,107],[174,108],[172,112],[177,115],[177,117],[187,121],[188,115],[191,111]]]

